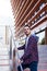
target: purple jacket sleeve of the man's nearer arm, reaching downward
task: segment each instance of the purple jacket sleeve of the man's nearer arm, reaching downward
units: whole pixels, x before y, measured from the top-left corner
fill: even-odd
[[[32,55],[32,52],[33,52],[33,47],[35,47],[34,44],[36,44],[36,40],[35,40],[34,37],[32,37],[31,43],[30,43],[30,45],[28,45],[28,47],[27,47],[27,50],[26,50],[26,52],[24,52],[24,55],[22,56],[21,60],[24,60],[24,59],[28,58],[28,57]]]

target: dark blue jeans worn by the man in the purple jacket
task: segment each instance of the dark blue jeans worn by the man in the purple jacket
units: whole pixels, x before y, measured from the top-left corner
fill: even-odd
[[[23,70],[26,69],[26,68],[30,68],[31,71],[37,71],[37,63],[38,63],[37,61],[33,61],[30,64],[23,64],[22,63],[22,68],[23,68]],[[20,66],[17,67],[17,71],[21,71]]]

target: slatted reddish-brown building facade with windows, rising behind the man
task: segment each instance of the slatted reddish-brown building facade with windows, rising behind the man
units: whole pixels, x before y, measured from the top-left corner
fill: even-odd
[[[47,0],[11,0],[15,22],[15,37],[23,37],[25,23],[31,25],[32,33],[45,31],[47,44]]]

